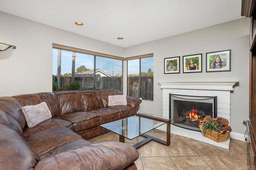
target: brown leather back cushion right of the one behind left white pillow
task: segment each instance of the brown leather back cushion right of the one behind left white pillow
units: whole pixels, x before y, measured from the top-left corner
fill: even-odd
[[[84,103],[78,91],[55,93],[60,103],[60,115],[84,110]]]

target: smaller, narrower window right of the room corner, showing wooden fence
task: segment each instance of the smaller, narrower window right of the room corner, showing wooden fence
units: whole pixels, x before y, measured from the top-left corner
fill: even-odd
[[[127,94],[135,98],[153,100],[154,68],[153,54],[126,58]]]

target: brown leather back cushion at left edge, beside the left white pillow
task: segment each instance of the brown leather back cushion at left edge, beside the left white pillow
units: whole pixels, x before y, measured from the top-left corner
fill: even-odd
[[[14,120],[15,120],[20,126],[20,128],[24,130],[24,127],[26,125],[26,119],[21,110],[23,106],[24,105],[20,101],[14,99],[13,97],[0,97],[0,111],[4,112],[4,113],[1,113],[3,124],[7,125],[9,123],[14,123]],[[7,121],[7,122],[4,123],[4,121]],[[18,130],[18,127],[15,127],[14,129]],[[20,134],[20,130],[16,132]]]

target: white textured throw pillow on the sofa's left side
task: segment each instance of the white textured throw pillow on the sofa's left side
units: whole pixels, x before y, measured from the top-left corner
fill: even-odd
[[[21,110],[30,128],[52,118],[51,111],[45,102],[39,103],[38,105],[24,106]]]

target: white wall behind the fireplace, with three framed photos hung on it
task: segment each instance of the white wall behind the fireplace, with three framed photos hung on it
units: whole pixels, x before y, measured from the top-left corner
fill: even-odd
[[[142,101],[139,112],[162,114],[162,89],[157,81],[238,80],[231,93],[232,132],[244,134],[249,117],[250,19],[232,22],[156,40],[125,49],[125,57],[154,53],[154,101]],[[206,73],[206,53],[231,49],[231,71]],[[202,53],[202,73],[183,73],[182,56]],[[180,73],[164,74],[164,58],[180,56]],[[188,94],[189,95],[189,94]]]

